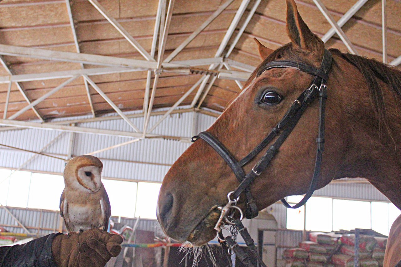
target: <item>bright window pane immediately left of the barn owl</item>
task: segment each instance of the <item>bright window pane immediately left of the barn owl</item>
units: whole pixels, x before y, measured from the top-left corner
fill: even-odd
[[[63,176],[32,173],[28,208],[58,210],[60,206],[60,196],[63,189]]]

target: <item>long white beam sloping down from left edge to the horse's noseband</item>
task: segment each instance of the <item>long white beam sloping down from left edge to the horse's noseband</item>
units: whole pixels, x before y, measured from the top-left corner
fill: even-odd
[[[79,126],[69,126],[69,125],[60,125],[55,123],[37,123],[30,121],[14,121],[10,119],[0,119],[0,125],[6,126],[15,126],[20,128],[34,128],[34,129],[49,129],[49,130],[57,130],[57,131],[67,131],[74,132],[80,134],[99,134],[106,136],[120,136],[120,137],[128,137],[128,138],[142,138],[142,133],[135,133],[130,131],[114,131],[114,130],[105,130],[105,129],[94,129],[87,127],[79,127]],[[147,138],[160,138],[160,139],[171,139],[171,140],[179,140],[187,142],[190,138],[181,137],[181,136],[165,136],[165,135],[155,135],[149,134],[146,136]]]

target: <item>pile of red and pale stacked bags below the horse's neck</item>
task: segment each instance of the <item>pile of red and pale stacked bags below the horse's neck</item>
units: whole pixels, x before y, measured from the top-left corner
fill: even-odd
[[[360,235],[359,266],[383,266],[387,237]],[[354,234],[309,233],[309,241],[298,248],[286,249],[283,257],[286,267],[353,267],[355,253]]]

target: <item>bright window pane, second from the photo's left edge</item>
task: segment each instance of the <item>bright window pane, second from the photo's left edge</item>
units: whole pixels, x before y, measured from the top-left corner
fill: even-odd
[[[7,206],[26,208],[31,172],[16,171],[10,176]]]

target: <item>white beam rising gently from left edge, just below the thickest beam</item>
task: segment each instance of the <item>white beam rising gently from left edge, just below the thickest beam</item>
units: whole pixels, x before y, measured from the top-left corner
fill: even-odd
[[[31,74],[18,74],[12,76],[0,76],[0,83],[11,82],[24,82],[24,81],[41,81],[49,79],[70,78],[76,75],[104,75],[122,72],[145,71],[146,69],[128,69],[122,67],[103,67],[93,69],[74,69],[70,71],[53,71],[46,73],[31,73]]]

